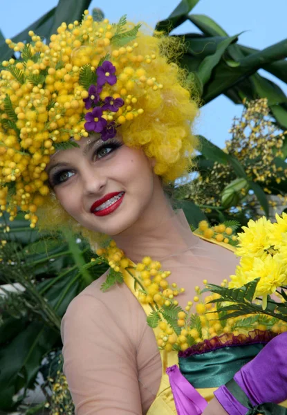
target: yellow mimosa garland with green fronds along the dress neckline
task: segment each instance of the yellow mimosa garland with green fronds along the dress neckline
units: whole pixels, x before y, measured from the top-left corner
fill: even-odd
[[[254,330],[271,330],[273,333],[287,330],[286,322],[266,315],[246,315],[244,318],[241,316],[220,320],[221,316],[217,312],[216,304],[212,303],[214,299],[219,298],[219,295],[213,294],[203,298],[199,286],[195,287],[196,295],[183,309],[178,305],[176,298],[180,293],[185,292],[185,288],[179,288],[175,283],[168,282],[167,278],[171,273],[162,270],[159,261],[144,257],[140,263],[133,264],[114,241],[111,241],[107,248],[100,248],[96,253],[100,261],[106,261],[112,270],[102,286],[103,291],[117,282],[123,282],[124,273],[129,273],[133,277],[138,300],[151,308],[147,324],[156,329],[159,349],[185,351],[194,344],[215,336],[248,335]],[[204,280],[203,284],[207,284],[207,280]],[[228,280],[223,280],[222,286],[227,284]]]

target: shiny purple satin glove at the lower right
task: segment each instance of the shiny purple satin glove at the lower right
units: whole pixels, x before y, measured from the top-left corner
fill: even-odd
[[[287,332],[273,338],[254,359],[235,374],[235,382],[253,406],[268,402],[281,403],[287,399],[286,352]],[[229,389],[223,385],[214,395],[228,414],[246,415],[248,407],[241,405]]]

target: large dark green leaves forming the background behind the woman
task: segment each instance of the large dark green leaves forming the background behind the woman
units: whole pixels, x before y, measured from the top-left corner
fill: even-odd
[[[285,131],[286,95],[275,82],[259,75],[258,70],[263,68],[287,82],[287,39],[263,50],[242,46],[239,34],[229,35],[211,17],[192,14],[198,1],[180,1],[169,17],[158,22],[156,30],[172,35],[172,30],[186,20],[201,30],[200,34],[185,35],[186,49],[178,64],[189,71],[202,104],[221,94],[236,104],[242,104],[244,98],[267,98],[272,122],[279,130]],[[56,8],[13,37],[12,41],[26,41],[29,30],[48,39],[62,21],[81,20],[82,13],[89,8],[90,3],[91,0],[59,0]],[[100,10],[94,10],[93,15],[97,19],[103,17]],[[9,59],[12,53],[0,32],[1,60]],[[268,216],[268,198],[263,190],[265,186],[252,180],[236,156],[227,154],[204,137],[199,137],[199,140],[201,148],[197,172],[209,172],[214,163],[230,167],[235,180],[248,183],[248,189],[252,190]],[[283,169],[287,167],[286,154],[284,136],[279,160]],[[234,196],[242,199],[240,186],[233,186],[233,183],[231,187],[230,183],[228,185],[229,191],[231,188]],[[286,194],[286,181],[282,181],[273,192],[275,195]],[[194,203],[183,187],[176,189],[176,195],[177,207],[183,208],[194,228],[202,219],[210,219],[212,223],[237,219],[241,224],[249,219],[248,210],[234,210],[232,213],[232,205],[217,206],[215,210],[207,209],[210,207],[206,206],[202,208]],[[248,203],[248,197],[245,203]],[[10,227],[9,232],[7,226]],[[73,297],[102,275],[106,266],[86,266],[94,254],[84,241],[76,239],[68,230],[53,235],[39,234],[37,230],[31,230],[21,216],[12,223],[8,223],[5,215],[1,218],[0,241],[8,241],[1,243],[0,284],[18,282],[25,288],[25,291],[6,292],[5,297],[0,297],[0,410],[11,412],[21,407],[28,389],[34,389],[39,372],[44,376],[42,389],[45,391],[48,376],[55,374],[55,356],[62,348],[59,335],[61,317]],[[49,371],[47,363],[43,363],[44,358],[52,368]],[[32,409],[29,411],[33,413]]]

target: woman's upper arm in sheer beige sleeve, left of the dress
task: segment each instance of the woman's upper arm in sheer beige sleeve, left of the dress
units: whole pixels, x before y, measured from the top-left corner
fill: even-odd
[[[62,338],[76,415],[142,415],[136,351],[107,306],[89,295],[76,297]]]

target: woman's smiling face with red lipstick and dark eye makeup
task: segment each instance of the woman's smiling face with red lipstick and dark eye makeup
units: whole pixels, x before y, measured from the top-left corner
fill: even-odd
[[[84,228],[119,234],[136,223],[154,193],[151,160],[120,138],[82,138],[80,147],[58,151],[47,167],[63,208]]]

